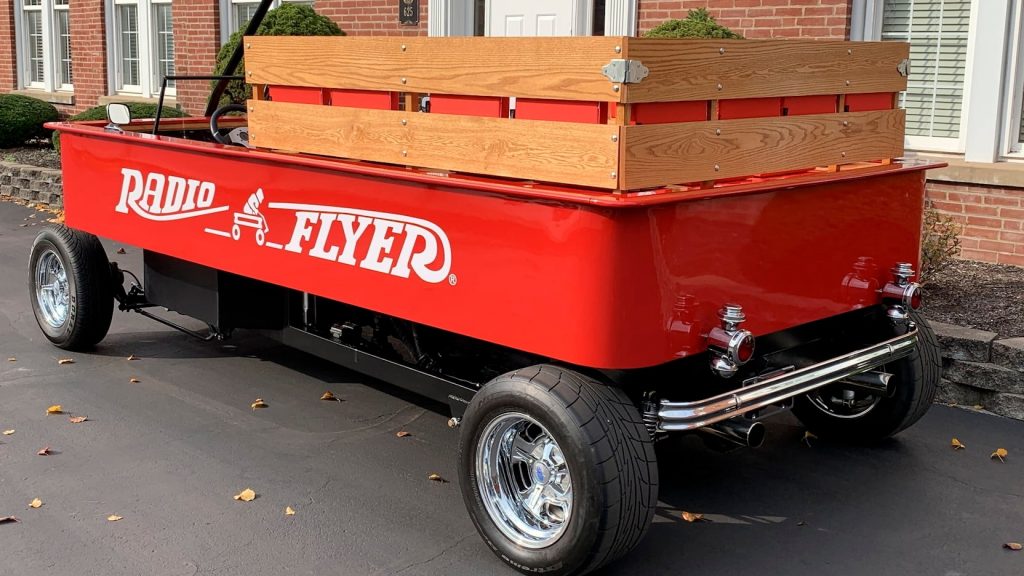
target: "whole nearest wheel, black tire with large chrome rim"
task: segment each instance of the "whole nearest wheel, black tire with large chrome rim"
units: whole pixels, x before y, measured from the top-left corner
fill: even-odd
[[[463,499],[513,568],[586,574],[647,532],[657,464],[621,389],[555,366],[525,368],[485,384],[461,427]]]

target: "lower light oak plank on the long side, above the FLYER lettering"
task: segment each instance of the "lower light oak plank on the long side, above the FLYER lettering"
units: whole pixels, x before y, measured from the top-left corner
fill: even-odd
[[[617,126],[249,100],[260,148],[601,189],[617,186]]]

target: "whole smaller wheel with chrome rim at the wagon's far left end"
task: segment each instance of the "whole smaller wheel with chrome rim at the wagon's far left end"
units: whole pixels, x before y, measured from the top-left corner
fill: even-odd
[[[99,239],[65,225],[40,232],[29,257],[29,297],[39,328],[57,346],[81,351],[102,340],[114,287]]]

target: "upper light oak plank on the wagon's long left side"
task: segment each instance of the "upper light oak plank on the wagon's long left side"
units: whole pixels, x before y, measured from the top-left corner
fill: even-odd
[[[253,36],[246,73],[271,85],[618,101],[601,69],[623,45],[621,37]]]

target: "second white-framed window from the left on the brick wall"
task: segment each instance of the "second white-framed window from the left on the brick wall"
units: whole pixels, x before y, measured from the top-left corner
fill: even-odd
[[[113,0],[109,35],[114,90],[153,97],[174,74],[174,18],[170,0]],[[174,81],[167,83],[174,94]]]

